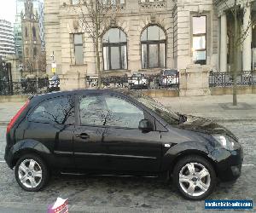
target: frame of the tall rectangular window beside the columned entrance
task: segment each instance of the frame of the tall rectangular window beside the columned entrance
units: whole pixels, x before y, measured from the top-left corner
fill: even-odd
[[[206,32],[205,33],[195,33],[193,32],[194,30],[194,25],[193,25],[193,19],[194,17],[198,18],[198,17],[206,17]],[[205,37],[205,40],[206,40],[206,47],[205,49],[194,49],[193,46],[194,46],[194,37]],[[200,64],[200,65],[207,65],[207,14],[202,14],[202,15],[192,15],[192,58],[193,58],[193,55],[194,55],[194,52],[206,52],[206,59],[204,62],[201,62],[201,63],[197,63],[197,64]],[[193,58],[193,61],[195,63],[196,60],[194,60]]]

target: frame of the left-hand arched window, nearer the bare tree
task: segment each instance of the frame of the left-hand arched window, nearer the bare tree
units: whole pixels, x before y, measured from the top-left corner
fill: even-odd
[[[125,33],[122,29],[120,29],[119,27],[111,27],[108,29],[118,29],[120,32]],[[104,32],[102,35],[102,39],[104,37],[104,35],[106,33],[108,33],[108,31]],[[115,71],[115,70],[128,70],[128,45],[127,45],[127,34],[125,33],[125,38],[126,38],[126,42],[119,42],[119,43],[104,43],[102,41],[102,60],[103,60],[103,71]],[[126,68],[122,67],[122,47],[126,47],[126,51],[125,51],[125,55],[126,55]],[[108,47],[108,61],[104,60],[104,54],[103,54],[103,49]],[[119,48],[119,68],[117,69],[113,69],[112,68],[112,62],[111,62],[111,48],[112,47],[118,47]],[[105,69],[106,66],[106,62],[108,63],[109,69]]]

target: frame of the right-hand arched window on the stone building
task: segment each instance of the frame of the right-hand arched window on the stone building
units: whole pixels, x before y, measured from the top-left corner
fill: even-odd
[[[149,26],[158,26],[158,25],[149,25]],[[167,39],[160,39],[160,40],[147,40],[147,41],[142,41],[142,36],[143,36],[143,32],[144,31],[147,31],[148,30],[148,27],[145,27],[141,33],[141,37],[140,37],[140,42],[141,42],[141,64],[142,64],[142,69],[154,69],[154,68],[166,68],[166,58],[167,58],[167,51],[166,51],[166,41]],[[160,30],[162,30],[165,34],[165,37],[166,37],[166,32],[164,31],[164,29],[160,26],[158,26],[160,28]],[[161,67],[160,66],[160,44],[164,44],[165,45],[165,57],[164,57],[164,60],[165,60],[165,66]],[[146,44],[147,46],[147,65],[146,67],[143,67],[143,44]],[[149,61],[149,45],[152,45],[152,44],[157,44],[157,49],[158,49],[158,66],[149,66],[150,64],[150,61]]]

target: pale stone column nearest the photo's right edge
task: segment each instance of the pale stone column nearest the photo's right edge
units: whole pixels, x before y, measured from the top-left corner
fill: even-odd
[[[248,28],[248,26],[250,26]],[[247,32],[247,35],[242,45],[242,70],[250,71],[252,64],[252,26],[251,26],[251,7],[250,5],[244,6],[243,16],[243,32]]]

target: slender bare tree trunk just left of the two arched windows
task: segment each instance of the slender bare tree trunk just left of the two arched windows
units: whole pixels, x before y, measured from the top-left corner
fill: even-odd
[[[100,23],[99,23],[99,13],[98,13],[98,4],[99,1],[96,0],[95,2],[95,13],[96,13],[96,20],[95,20],[95,28],[96,28],[96,73],[98,75],[98,85],[97,88],[101,89],[102,88],[102,78],[101,78],[101,59],[100,59],[100,52],[99,52],[99,27],[100,27]]]

